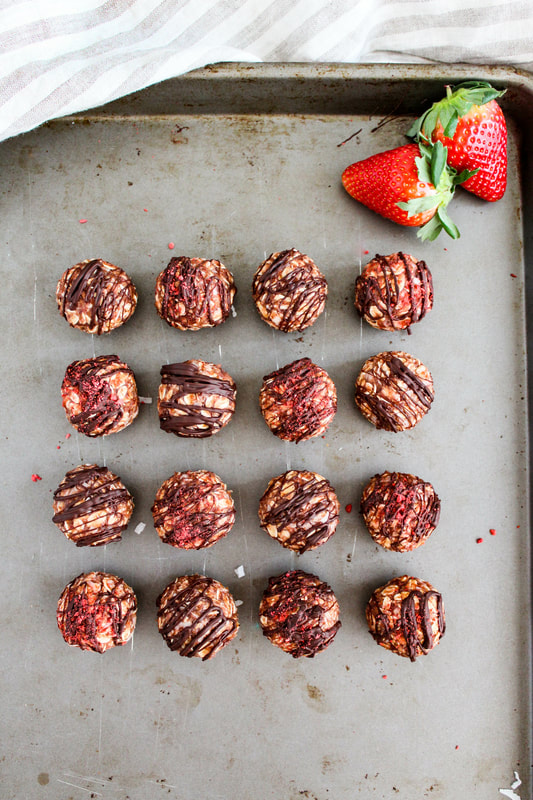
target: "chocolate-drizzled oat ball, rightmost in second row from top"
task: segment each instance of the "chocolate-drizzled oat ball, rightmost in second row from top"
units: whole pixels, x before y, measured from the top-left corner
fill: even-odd
[[[355,382],[355,402],[376,428],[405,431],[424,417],[433,402],[431,373],[401,351],[379,353],[363,364]]]

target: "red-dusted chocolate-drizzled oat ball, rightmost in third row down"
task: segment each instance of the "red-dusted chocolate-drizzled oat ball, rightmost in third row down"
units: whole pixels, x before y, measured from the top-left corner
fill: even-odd
[[[374,541],[405,553],[435,530],[440,500],[430,483],[405,472],[374,475],[361,497],[361,513]]]

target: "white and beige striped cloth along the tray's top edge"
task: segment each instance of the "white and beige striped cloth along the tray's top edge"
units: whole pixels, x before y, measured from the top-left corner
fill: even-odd
[[[532,0],[0,0],[0,140],[220,61],[533,70]]]

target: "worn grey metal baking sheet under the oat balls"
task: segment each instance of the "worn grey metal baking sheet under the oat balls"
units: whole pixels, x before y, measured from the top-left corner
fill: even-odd
[[[509,186],[496,204],[458,192],[461,239],[422,244],[351,200],[340,175],[403,143],[423,105],[466,77],[508,89]],[[0,146],[3,797],[496,800],[511,784],[530,796],[531,101],[530,78],[503,68],[219,65]],[[324,315],[294,335],[264,325],[250,291],[257,265],[292,246],[330,288]],[[397,250],[425,259],[435,284],[410,336],[372,330],[353,309],[361,265]],[[155,277],[178,254],[233,271],[235,315],[220,328],[159,320]],[[63,270],[90,257],[123,266],[140,295],[132,320],[102,338],[70,329],[54,301]],[[433,373],[433,408],[410,432],[377,431],[354,406],[362,362],[387,349]],[[119,434],[78,435],[62,377],[105,353],[127,361],[146,398],[167,361],[222,364],[238,385],[234,419],[212,439],[180,440],[146,403]],[[339,410],[323,438],[284,444],[258,392],[302,356],[329,372]],[[51,522],[53,490],[82,462],[107,464],[134,496],[119,544],[76,548]],[[237,522],[213,548],[178,551],[159,542],[153,498],[175,470],[204,467],[232,489]],[[302,556],[257,520],[268,480],[288,467],[326,476],[342,506],[335,536]],[[411,554],[374,545],[357,512],[385,469],[430,480],[442,500],[436,532]],[[314,659],[290,658],[258,626],[268,577],[296,567],[341,606],[336,640]],[[103,656],[68,648],[55,621],[65,584],[91,569],[121,575],[139,600],[133,640]],[[242,601],[238,638],[211,662],[171,653],[156,627],[157,594],[192,571]],[[404,573],[429,580],[447,616],[442,643],[415,663],[378,647],[364,619],[371,591]]]

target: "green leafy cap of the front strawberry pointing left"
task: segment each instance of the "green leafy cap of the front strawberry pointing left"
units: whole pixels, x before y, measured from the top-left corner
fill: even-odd
[[[426,222],[425,225],[418,229],[417,236],[422,241],[433,241],[442,230],[445,230],[452,239],[458,239],[460,236],[459,230],[450,219],[446,208],[454,196],[455,187],[471,177],[472,173],[468,170],[463,170],[458,174],[456,170],[449,166],[447,162],[448,151],[442,142],[431,144],[420,141],[418,148],[420,156],[415,158],[418,178],[423,183],[433,184],[435,192],[423,197],[413,198],[407,202],[398,203],[397,205],[403,211],[407,211],[409,217],[436,208],[435,215],[429,222]]]

